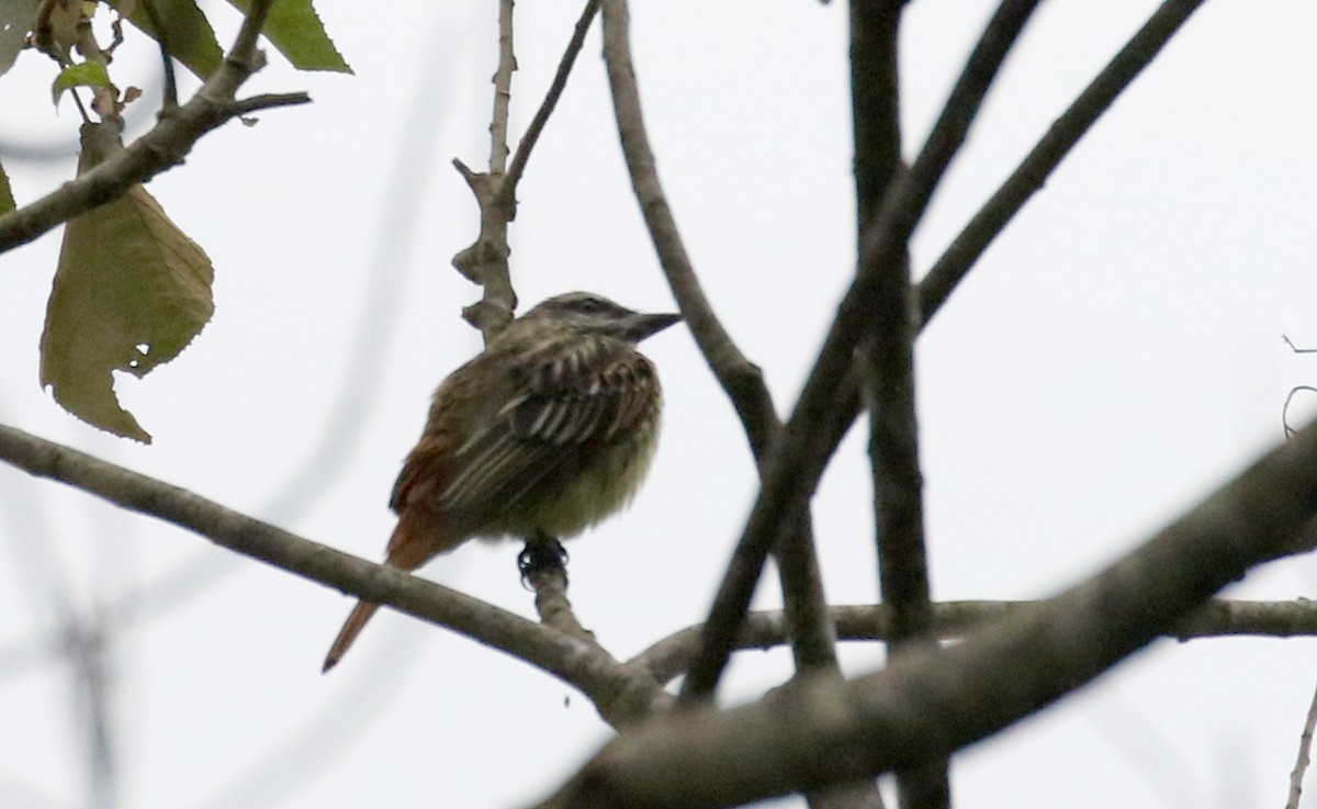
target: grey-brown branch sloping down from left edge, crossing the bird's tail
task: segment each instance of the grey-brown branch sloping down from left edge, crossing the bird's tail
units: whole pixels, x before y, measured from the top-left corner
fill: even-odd
[[[633,721],[666,702],[666,694],[644,669],[618,664],[597,646],[395,568],[303,539],[186,489],[12,427],[0,427],[0,460],[524,660],[578,688],[612,725]]]

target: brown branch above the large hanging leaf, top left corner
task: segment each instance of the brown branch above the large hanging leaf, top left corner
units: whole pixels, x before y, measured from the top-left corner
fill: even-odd
[[[202,136],[246,112],[241,103],[234,101],[234,95],[265,63],[255,50],[255,41],[271,3],[252,3],[229,55],[187,104],[163,111],[150,132],[91,171],[0,216],[0,253],[28,244],[79,213],[117,199],[129,187],[182,163]],[[296,100],[309,99],[296,96]]]

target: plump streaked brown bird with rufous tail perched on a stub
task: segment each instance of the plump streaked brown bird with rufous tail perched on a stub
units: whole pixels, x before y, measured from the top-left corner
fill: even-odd
[[[626,507],[662,411],[658,374],[636,345],[680,320],[566,293],[510,323],[435,391],[394,484],[385,564],[415,571],[471,538],[565,539]],[[377,609],[357,602],[323,671]]]

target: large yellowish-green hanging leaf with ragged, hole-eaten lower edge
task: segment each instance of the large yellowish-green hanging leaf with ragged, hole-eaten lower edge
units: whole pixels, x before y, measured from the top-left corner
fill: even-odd
[[[82,174],[117,142],[109,124],[82,129]],[[41,385],[79,419],[150,443],[115,397],[112,372],[137,377],[169,362],[215,311],[211,260],[141,186],[65,228],[41,335]]]

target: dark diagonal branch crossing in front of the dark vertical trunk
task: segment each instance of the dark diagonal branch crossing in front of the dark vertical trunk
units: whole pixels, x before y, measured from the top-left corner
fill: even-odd
[[[803,510],[831,455],[820,452],[819,437],[830,430],[830,411],[847,377],[856,343],[874,316],[872,302],[880,270],[901,261],[905,254],[910,233],[923,216],[951,158],[964,142],[992,79],[1038,1],[1002,3],[971,54],[919,157],[893,183],[878,224],[865,238],[856,279],[842,300],[782,440],[766,465],[764,485],[710,611],[705,648],[684,683],[682,701],[703,700],[718,684],[768,552],[784,527],[790,524],[790,515]]]

